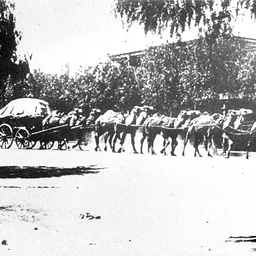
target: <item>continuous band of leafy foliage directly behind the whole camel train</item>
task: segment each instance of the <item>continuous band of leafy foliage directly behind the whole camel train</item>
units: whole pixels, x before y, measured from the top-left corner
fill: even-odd
[[[85,113],[91,108],[126,112],[147,104],[175,115],[201,100],[256,100],[256,56],[237,37],[219,38],[212,47],[205,39],[152,47],[140,62],[132,67],[126,61],[109,61],[73,77],[34,71],[22,95],[44,99],[63,112],[74,107]],[[15,97],[10,94],[8,99]],[[215,105],[207,110],[219,111]]]

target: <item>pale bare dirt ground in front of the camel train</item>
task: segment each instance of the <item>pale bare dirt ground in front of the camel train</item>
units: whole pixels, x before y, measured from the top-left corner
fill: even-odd
[[[256,156],[177,152],[0,150],[0,255],[251,255]]]

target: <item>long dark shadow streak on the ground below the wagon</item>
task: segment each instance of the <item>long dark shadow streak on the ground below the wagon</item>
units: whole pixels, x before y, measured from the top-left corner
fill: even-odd
[[[99,170],[94,165],[77,166],[71,168],[49,167],[49,166],[0,166],[1,179],[37,179],[61,177],[66,175],[97,174]]]

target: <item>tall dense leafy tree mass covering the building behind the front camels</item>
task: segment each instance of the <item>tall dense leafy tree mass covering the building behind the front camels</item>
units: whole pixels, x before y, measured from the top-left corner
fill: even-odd
[[[245,45],[230,37],[217,39],[212,49],[206,39],[149,48],[137,69],[142,100],[174,114],[200,101],[204,110],[219,111],[206,103],[218,103],[221,95],[255,100],[256,56]]]

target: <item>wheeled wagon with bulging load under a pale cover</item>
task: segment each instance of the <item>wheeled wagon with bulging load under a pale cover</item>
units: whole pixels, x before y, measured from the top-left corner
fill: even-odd
[[[0,110],[0,147],[10,148],[14,141],[19,149],[31,149],[38,141],[43,149],[52,148],[55,141],[63,147],[70,133],[81,126],[63,124],[43,129],[42,121],[51,113],[44,100],[21,98],[11,101]]]

